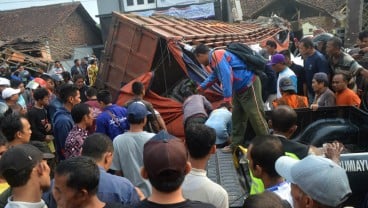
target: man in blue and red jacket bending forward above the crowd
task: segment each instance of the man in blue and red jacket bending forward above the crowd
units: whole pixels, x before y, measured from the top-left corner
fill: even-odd
[[[201,44],[193,53],[200,64],[209,65],[213,71],[197,90],[204,91],[216,81],[220,81],[224,102],[233,105],[232,143],[223,151],[231,152],[237,145],[243,144],[248,120],[257,136],[267,135],[268,125],[258,76],[249,70],[243,60],[227,50],[210,50],[208,46]]]

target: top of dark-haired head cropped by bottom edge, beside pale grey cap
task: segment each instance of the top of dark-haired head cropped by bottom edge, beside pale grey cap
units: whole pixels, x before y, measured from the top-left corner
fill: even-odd
[[[291,208],[287,201],[282,200],[271,191],[250,195],[244,201],[243,208]]]

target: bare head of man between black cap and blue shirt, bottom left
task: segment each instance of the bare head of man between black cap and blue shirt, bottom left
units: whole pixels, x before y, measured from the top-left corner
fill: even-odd
[[[73,157],[63,160],[55,170],[52,189],[58,207],[83,207],[96,196],[100,171],[89,157]]]

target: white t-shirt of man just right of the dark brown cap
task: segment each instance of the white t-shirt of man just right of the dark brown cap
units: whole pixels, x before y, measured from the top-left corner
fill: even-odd
[[[182,185],[184,198],[192,201],[206,202],[217,208],[228,208],[229,197],[222,186],[211,181],[205,170],[192,168],[185,176]]]

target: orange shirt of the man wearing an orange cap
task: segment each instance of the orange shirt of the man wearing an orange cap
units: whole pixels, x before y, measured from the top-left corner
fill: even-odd
[[[308,99],[296,94],[283,94],[281,98],[272,102],[274,108],[279,105],[288,105],[291,108],[308,108]]]

